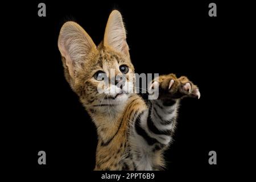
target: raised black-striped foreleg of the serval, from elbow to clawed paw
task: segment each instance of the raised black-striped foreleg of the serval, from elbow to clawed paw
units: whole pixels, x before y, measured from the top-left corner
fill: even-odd
[[[147,129],[159,141],[160,146],[165,146],[171,142],[174,134],[180,99],[200,98],[200,92],[187,77],[177,78],[174,74],[159,76],[151,87],[158,89],[159,96],[156,100],[150,100]]]

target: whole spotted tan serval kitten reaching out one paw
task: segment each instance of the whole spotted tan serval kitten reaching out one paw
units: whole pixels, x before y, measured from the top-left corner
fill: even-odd
[[[158,87],[157,100],[145,101],[134,89],[134,67],[126,43],[122,16],[114,10],[106,26],[104,40],[97,47],[79,24],[67,22],[58,40],[64,74],[79,96],[98,134],[95,170],[161,170],[163,152],[174,135],[179,101],[184,97],[200,97],[199,89],[187,77],[174,74],[159,76],[151,88]],[[121,66],[127,67],[123,73]],[[112,83],[109,92],[99,93],[104,72],[110,79],[126,75],[124,86]],[[154,94],[154,93],[152,93]]]

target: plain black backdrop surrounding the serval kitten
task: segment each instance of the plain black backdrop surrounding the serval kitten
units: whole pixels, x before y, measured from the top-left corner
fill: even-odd
[[[236,168],[232,162],[241,160],[241,139],[234,127],[242,109],[237,107],[242,100],[237,86],[247,61],[242,47],[250,42],[250,5],[213,1],[217,17],[209,17],[212,1],[42,2],[46,17],[38,16],[39,1],[3,7],[8,11],[2,29],[11,33],[4,52],[10,64],[4,70],[9,73],[6,108],[11,111],[5,121],[10,131],[3,148],[10,168],[40,177],[86,179],[95,174],[90,171],[96,128],[64,79],[57,38],[62,24],[75,20],[100,43],[114,9],[123,15],[137,73],[185,75],[200,88],[200,100],[181,103],[175,142],[166,152],[167,171],[158,176],[220,179]],[[46,166],[38,164],[40,150],[46,151]],[[208,163],[211,150],[217,152],[215,166]]]

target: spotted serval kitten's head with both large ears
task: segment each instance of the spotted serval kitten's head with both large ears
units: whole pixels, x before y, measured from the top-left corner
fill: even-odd
[[[85,106],[113,106],[127,100],[134,86],[134,67],[119,11],[110,14],[100,45],[79,24],[67,22],[58,47],[65,78]]]

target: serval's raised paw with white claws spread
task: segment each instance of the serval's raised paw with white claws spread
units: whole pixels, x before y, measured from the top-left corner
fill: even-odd
[[[159,98],[183,98],[194,97],[200,98],[199,88],[194,85],[187,77],[177,78],[174,74],[162,75],[155,79],[151,84],[151,89],[158,87]]]

